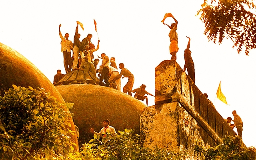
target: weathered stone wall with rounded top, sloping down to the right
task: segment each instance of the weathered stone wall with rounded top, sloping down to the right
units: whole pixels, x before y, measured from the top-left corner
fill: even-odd
[[[176,61],[162,61],[155,71],[155,106],[146,107],[140,116],[144,146],[189,149],[196,140],[215,146],[222,142],[222,137],[234,135],[212,102]]]

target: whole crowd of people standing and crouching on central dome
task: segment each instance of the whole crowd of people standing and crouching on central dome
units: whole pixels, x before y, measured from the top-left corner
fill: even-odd
[[[99,85],[112,87],[121,91],[121,77],[128,78],[128,82],[123,87],[123,92],[128,93],[132,96],[132,92],[136,93],[134,97],[144,101],[146,99],[146,104],[148,105],[148,97],[145,94],[154,96],[148,93],[145,88],[146,85],[142,85],[138,89],[132,90],[134,84],[134,75],[124,67],[124,63],[119,64],[120,73],[116,65],[115,57],[108,57],[106,53],[101,53],[100,57],[94,59],[94,52],[98,51],[100,47],[100,40],[98,40],[97,47],[91,42],[92,34],[88,34],[82,41],[80,41],[80,34],[78,33],[78,26],[81,26],[80,22],[77,21],[76,32],[74,35],[74,43],[70,41],[69,34],[66,33],[65,36],[62,36],[60,31],[61,24],[59,25],[59,36],[61,39],[61,51],[64,58],[64,68],[66,74],[74,70],[82,70],[84,74],[84,84],[97,84],[97,79],[99,78]],[[81,26],[82,27],[82,26]],[[71,56],[71,51],[73,51]],[[97,69],[97,65],[102,59],[100,67]],[[98,75],[97,75],[98,73]],[[93,82],[88,82],[87,77],[90,74]],[[60,69],[58,69],[57,74],[54,76],[54,85],[64,77],[65,74],[62,74]],[[98,76],[98,77],[97,77]]]

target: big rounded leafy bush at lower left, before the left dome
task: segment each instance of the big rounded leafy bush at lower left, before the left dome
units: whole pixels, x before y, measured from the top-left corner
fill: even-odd
[[[0,159],[50,159],[72,153],[74,133],[67,127],[71,113],[44,89],[13,87],[0,96]]]

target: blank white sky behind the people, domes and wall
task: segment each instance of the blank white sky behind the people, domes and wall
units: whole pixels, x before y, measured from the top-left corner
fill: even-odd
[[[124,63],[135,78],[134,88],[145,84],[146,90],[155,93],[155,67],[170,59],[168,37],[170,29],[160,21],[171,12],[178,20],[177,62],[183,68],[184,50],[191,38],[190,50],[195,63],[196,85],[208,94],[223,118],[232,117],[236,110],[244,122],[243,140],[247,146],[256,146],[255,129],[255,65],[256,50],[249,56],[240,55],[232,49],[232,41],[222,45],[209,42],[204,33],[204,24],[196,16],[203,0],[2,0],[0,10],[0,42],[20,52],[53,81],[57,69],[65,71],[63,54],[60,52],[58,26],[62,35],[69,33],[73,41],[76,21],[80,41],[88,33],[97,44],[93,19],[97,22],[100,49],[94,57],[106,53],[115,57],[116,63]],[[165,23],[173,23],[167,18]],[[229,105],[216,98],[221,81],[222,92]],[[122,86],[127,78],[122,80]],[[154,97],[149,97],[149,106]],[[146,103],[144,101],[144,103]],[[236,129],[235,129],[236,130]]]

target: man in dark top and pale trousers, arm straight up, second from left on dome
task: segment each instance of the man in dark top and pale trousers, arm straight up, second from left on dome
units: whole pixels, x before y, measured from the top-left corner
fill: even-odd
[[[79,45],[80,45],[80,34],[78,34],[78,22],[76,21],[76,33],[74,36],[74,43],[73,43],[73,56],[74,56],[74,61],[73,61],[73,67],[72,70],[78,69],[78,56],[79,56]]]

